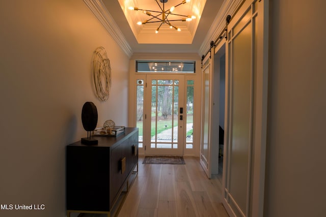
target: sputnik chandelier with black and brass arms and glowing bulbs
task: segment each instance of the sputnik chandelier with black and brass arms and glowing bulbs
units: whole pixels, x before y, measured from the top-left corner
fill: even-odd
[[[170,26],[170,28],[174,28],[176,30],[178,30],[179,32],[181,31],[180,28],[176,27],[175,25],[171,24],[172,21],[192,21],[193,19],[196,19],[196,16],[192,15],[181,15],[181,14],[174,14],[173,11],[176,7],[183,5],[185,3],[190,2],[191,0],[183,0],[180,4],[176,5],[176,6],[172,6],[170,9],[165,10],[165,3],[168,2],[168,0],[159,0],[160,3],[163,3],[162,6],[159,5],[159,3],[157,2],[157,0],[155,0],[155,2],[157,3],[160,11],[152,11],[152,10],[144,10],[144,9],[140,9],[140,8],[134,8],[134,7],[129,7],[130,10],[135,10],[135,11],[143,11],[144,14],[150,16],[151,18],[148,20],[144,20],[144,21],[139,21],[137,24],[138,25],[143,25],[146,23],[154,23],[154,22],[160,22],[159,26],[156,28],[155,33],[158,33],[159,28],[161,27],[162,24],[166,23]],[[155,13],[154,15],[152,13]],[[169,19],[169,16],[178,16],[179,17],[184,17],[182,19]],[[161,18],[160,18],[161,17]]]

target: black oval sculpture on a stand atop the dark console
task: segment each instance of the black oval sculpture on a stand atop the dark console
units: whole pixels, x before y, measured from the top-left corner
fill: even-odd
[[[83,127],[87,131],[87,138],[82,138],[82,143],[86,145],[96,145],[98,141],[91,138],[91,132],[97,125],[97,109],[94,103],[86,102],[82,109]]]

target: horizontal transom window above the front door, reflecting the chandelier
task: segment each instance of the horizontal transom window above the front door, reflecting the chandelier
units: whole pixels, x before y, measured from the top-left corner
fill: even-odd
[[[136,72],[195,73],[195,61],[136,61]]]

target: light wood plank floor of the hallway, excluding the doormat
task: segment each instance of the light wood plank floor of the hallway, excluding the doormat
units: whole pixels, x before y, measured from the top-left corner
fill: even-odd
[[[185,165],[142,164],[118,217],[228,216],[222,205],[222,183],[208,179],[198,158]]]

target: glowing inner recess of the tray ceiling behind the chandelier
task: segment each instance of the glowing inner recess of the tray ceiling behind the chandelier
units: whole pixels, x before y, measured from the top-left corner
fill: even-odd
[[[119,4],[138,43],[157,44],[157,42],[159,42],[160,44],[192,44],[206,0],[191,0],[184,4],[182,4],[182,1],[183,0],[161,0],[161,2],[166,2],[161,3],[160,0],[119,0]],[[168,15],[169,20],[185,18],[179,15],[194,15],[196,19],[192,21],[171,21],[173,26],[181,29],[180,32],[175,28],[170,28],[169,24],[160,21],[163,19],[161,13],[156,13],[154,11],[167,11],[172,6],[177,7],[175,7],[172,14]],[[152,16],[146,15],[142,10],[129,10],[129,7],[146,10]],[[157,22],[143,25],[137,24],[139,21],[143,22],[149,19],[151,19],[150,21]],[[155,30],[158,27],[159,31],[156,34]]]

